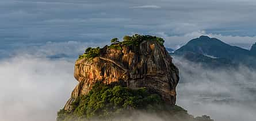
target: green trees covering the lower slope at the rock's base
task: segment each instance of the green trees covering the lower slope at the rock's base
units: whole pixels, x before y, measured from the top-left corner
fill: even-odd
[[[73,111],[60,110],[57,120],[110,119],[117,115],[129,115],[127,112],[135,110],[187,114],[181,107],[165,104],[158,94],[151,93],[146,88],[109,87],[102,83],[96,83],[87,95],[78,97],[72,106]]]

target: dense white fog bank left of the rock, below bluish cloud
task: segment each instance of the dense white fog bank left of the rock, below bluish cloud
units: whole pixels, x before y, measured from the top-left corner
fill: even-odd
[[[53,121],[76,84],[72,61],[20,55],[0,65],[0,120]]]

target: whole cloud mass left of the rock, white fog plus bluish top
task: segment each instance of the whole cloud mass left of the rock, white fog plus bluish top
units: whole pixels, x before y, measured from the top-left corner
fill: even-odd
[[[56,120],[77,84],[74,61],[86,46],[95,45],[77,41],[23,45],[2,58],[0,120]]]

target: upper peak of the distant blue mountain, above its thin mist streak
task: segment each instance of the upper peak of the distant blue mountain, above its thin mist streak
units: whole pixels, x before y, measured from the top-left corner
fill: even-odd
[[[250,51],[247,49],[239,48],[238,46],[228,45],[217,38],[210,38],[208,36],[201,36],[188,42],[182,46],[175,53],[193,52],[212,56],[216,58],[240,58],[249,56]]]

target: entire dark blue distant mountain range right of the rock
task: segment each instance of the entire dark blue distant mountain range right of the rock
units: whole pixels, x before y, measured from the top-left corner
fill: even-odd
[[[251,50],[238,46],[231,46],[208,36],[200,36],[190,40],[186,45],[175,50],[174,56],[183,56],[186,59],[209,66],[234,66],[239,64],[256,67],[256,45]]]

